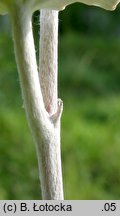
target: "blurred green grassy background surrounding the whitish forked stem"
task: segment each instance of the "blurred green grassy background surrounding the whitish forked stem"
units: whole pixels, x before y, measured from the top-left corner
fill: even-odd
[[[38,53],[39,13],[33,17]],[[120,7],[74,4],[59,15],[65,199],[120,199]],[[0,17],[0,199],[41,199],[10,22]]]

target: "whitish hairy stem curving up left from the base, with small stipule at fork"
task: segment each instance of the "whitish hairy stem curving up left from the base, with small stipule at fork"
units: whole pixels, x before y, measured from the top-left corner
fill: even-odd
[[[55,113],[49,115],[38,77],[31,12],[16,3],[9,13],[24,107],[36,143],[42,198],[60,200],[63,199],[59,132],[62,101],[56,102]]]

